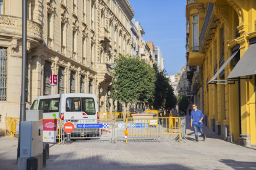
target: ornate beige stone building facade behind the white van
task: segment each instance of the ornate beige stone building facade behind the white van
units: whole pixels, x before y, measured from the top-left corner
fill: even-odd
[[[6,116],[19,117],[22,66],[22,1],[2,2],[0,135]],[[129,1],[32,0],[27,11],[26,107],[36,96],[84,92],[96,94],[100,111],[124,110],[108,95],[109,63],[130,53]],[[58,86],[50,86],[52,74],[58,75]]]

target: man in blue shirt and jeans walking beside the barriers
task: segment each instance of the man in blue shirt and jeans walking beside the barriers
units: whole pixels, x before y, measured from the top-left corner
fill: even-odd
[[[198,142],[198,136],[197,136],[197,128],[199,129],[199,131],[201,132],[202,136],[203,136],[203,141],[206,140],[206,136],[205,133],[203,132],[203,113],[201,110],[197,109],[197,104],[194,103],[193,105],[193,111],[191,111],[191,127],[194,127],[194,131],[195,131],[195,142]]]

